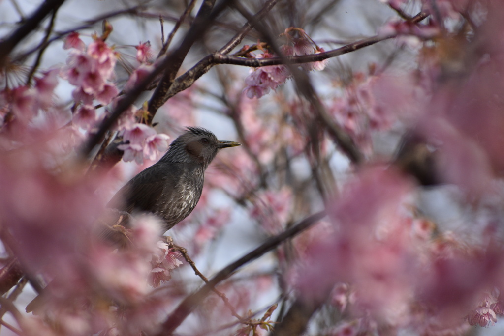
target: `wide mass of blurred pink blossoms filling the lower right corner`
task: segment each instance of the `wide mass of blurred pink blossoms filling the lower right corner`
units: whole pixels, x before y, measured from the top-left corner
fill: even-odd
[[[493,324],[502,316],[498,290],[477,297],[492,284],[502,285],[501,249],[449,234],[437,240],[413,235],[431,226],[411,220],[412,191],[411,181],[393,170],[360,172],[331,207],[334,233],[314,239],[300,259],[294,287],[308,301],[330,295],[361,332],[387,325],[455,335],[465,315],[472,325]]]

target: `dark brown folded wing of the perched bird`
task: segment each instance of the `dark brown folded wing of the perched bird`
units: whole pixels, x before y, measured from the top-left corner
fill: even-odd
[[[107,207],[132,213],[134,210],[150,211],[160,200],[165,188],[173,188],[178,172],[166,163],[156,163],[140,172],[122,187]]]

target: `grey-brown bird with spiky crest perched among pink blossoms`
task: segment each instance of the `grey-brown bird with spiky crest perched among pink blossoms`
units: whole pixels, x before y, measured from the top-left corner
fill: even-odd
[[[239,145],[218,140],[205,128],[187,127],[159,161],[119,189],[107,208],[129,215],[153,213],[163,220],[163,229],[167,231],[198,204],[205,171],[219,150]]]

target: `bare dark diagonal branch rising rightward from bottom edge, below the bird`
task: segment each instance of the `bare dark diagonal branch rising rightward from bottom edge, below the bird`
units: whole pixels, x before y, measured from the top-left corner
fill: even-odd
[[[164,321],[161,330],[157,335],[162,336],[171,334],[180,325],[180,323],[182,323],[182,321],[196,308],[196,306],[198,306],[198,304],[200,304],[201,301],[203,301],[208,296],[208,294],[212,292],[213,288],[218,283],[229,278],[240,267],[265,255],[269,251],[275,249],[285,240],[298,235],[325,216],[325,211],[321,211],[306,217],[305,219],[280,233],[279,235],[269,238],[261,246],[241,257],[234,263],[226,266],[212,279],[210,279],[208,284],[204,285],[197,292],[191,294],[190,296],[187,296]]]

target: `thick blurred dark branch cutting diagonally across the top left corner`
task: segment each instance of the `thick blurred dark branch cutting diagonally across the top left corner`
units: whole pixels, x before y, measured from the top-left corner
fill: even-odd
[[[7,56],[26,36],[33,32],[49,13],[58,9],[65,0],[46,0],[10,37],[0,43],[0,68],[3,68]]]

